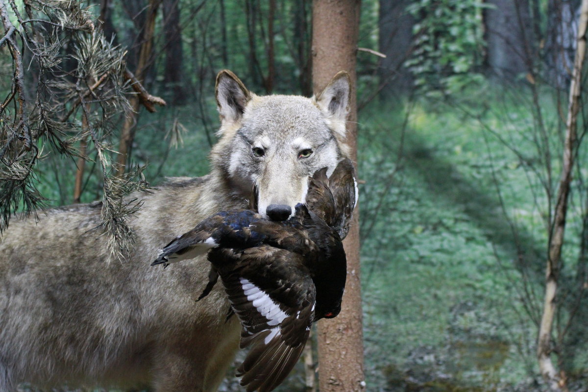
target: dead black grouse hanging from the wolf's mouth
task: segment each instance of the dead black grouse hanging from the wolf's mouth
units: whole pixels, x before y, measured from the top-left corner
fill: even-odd
[[[248,392],[277,387],[298,361],[312,323],[339,314],[346,280],[341,240],[349,231],[357,184],[348,159],[330,178],[326,171],[309,179],[308,207],[297,205],[290,219],[273,222],[252,210],[219,212],[176,237],[152,263],[208,252],[211,273],[200,299],[220,276],[242,326],[240,347],[252,346],[237,369]]]

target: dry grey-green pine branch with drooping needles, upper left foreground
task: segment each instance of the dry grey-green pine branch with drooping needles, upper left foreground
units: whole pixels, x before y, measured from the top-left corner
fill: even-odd
[[[11,93],[0,106],[0,233],[14,212],[36,214],[44,206],[45,199],[35,188],[39,149],[78,157],[80,162],[88,159],[88,150],[95,149],[103,177],[101,226],[111,257],[121,259],[135,240],[129,219],[142,205],[140,193],[128,195],[148,190],[142,167],[121,177],[113,175],[116,164],[111,159],[115,154],[111,139],[117,127],[112,119],[131,112],[125,51],[94,27],[92,13],[81,0],[25,0],[25,11],[21,15],[14,0],[0,0],[0,20],[6,32],[0,46],[8,46],[14,69]],[[12,25],[11,18],[18,25]],[[16,37],[22,47],[16,44]],[[72,50],[64,55],[61,48],[65,45]],[[25,52],[29,52],[36,78],[25,75]],[[74,71],[62,69],[66,59],[75,63],[68,67]],[[132,87],[139,86],[133,83]],[[139,95],[146,105],[165,104],[157,97]],[[78,176],[79,198],[83,170]]]

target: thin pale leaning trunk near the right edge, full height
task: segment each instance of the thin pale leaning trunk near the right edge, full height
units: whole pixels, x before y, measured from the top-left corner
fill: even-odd
[[[588,26],[588,0],[582,1],[578,24],[578,40],[572,82],[570,83],[570,101],[566,119],[566,140],[562,159],[562,177],[557,190],[557,202],[549,239],[549,255],[546,267],[545,299],[543,315],[537,338],[537,359],[543,378],[553,391],[566,391],[566,378],[563,371],[558,373],[554,366],[552,354],[553,320],[557,311],[557,284],[562,262],[562,246],[566,228],[567,200],[570,194],[570,182],[577,150],[577,115],[580,109],[580,87],[582,85],[582,68],[586,55],[586,28]]]

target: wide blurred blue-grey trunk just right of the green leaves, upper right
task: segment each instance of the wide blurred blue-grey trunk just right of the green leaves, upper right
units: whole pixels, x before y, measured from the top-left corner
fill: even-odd
[[[486,0],[492,8],[483,13],[486,26],[486,68],[507,81],[529,72],[532,64],[533,28],[528,0]]]

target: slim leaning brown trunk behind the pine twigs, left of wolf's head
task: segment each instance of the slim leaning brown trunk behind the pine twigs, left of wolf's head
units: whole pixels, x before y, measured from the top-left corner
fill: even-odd
[[[143,83],[147,69],[152,63],[151,56],[153,52],[153,34],[155,33],[155,17],[160,3],[161,0],[149,0],[145,25],[143,26],[139,57],[136,62],[135,78],[139,83]],[[121,130],[121,140],[118,146],[118,159],[116,160],[118,164],[116,167],[116,175],[119,177],[125,173],[126,160],[131,153],[131,146],[133,139],[135,138],[137,116],[139,109],[141,109],[141,102],[139,101],[138,96],[131,96],[129,103],[131,104],[132,112],[125,117],[125,122],[123,123]]]

